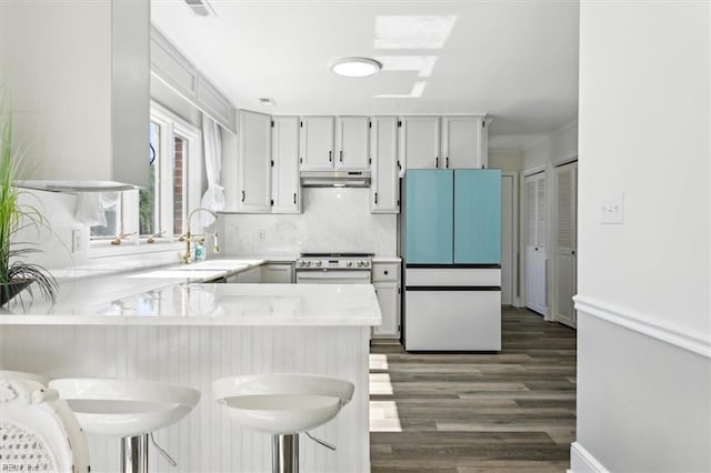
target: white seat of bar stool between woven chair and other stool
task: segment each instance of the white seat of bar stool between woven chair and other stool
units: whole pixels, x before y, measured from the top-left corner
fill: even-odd
[[[141,380],[74,378],[50,381],[86,432],[134,436],[173,424],[200,400],[200,392]]]

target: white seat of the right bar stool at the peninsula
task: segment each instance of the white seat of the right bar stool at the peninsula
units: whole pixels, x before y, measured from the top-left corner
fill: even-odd
[[[314,374],[230,376],[212,383],[216,400],[240,424],[272,435],[327,423],[353,396],[348,381]]]

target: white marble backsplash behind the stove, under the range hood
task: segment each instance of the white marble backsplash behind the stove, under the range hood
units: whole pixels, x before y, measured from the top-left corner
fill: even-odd
[[[397,215],[370,213],[370,190],[308,188],[300,214],[221,214],[226,254],[369,252],[397,254]]]

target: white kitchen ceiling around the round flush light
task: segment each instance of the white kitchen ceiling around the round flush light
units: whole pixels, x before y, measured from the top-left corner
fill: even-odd
[[[238,108],[274,114],[487,112],[492,148],[578,117],[577,0],[152,0],[152,21]],[[329,66],[379,59],[369,78]],[[378,97],[391,95],[391,97]],[[272,98],[264,107],[259,98]]]

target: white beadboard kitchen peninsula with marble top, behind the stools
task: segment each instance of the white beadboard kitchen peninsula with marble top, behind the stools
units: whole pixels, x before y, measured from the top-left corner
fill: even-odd
[[[99,280],[118,281],[121,275]],[[123,280],[128,280],[124,278]],[[83,284],[82,284],[83,281]],[[301,439],[309,472],[370,470],[369,333],[381,323],[372,285],[203,284],[132,279],[121,291],[90,279],[63,280],[54,306],[33,301],[0,313],[0,366],[49,378],[154,380],[198,389],[184,420],[156,437],[151,471],[268,471],[271,439],[242,429],[213,401],[213,380],[248,373],[306,372],[348,380],[352,401],[313,434],[331,452]],[[124,283],[126,284],[126,283]],[[118,440],[88,435],[92,471],[116,471]]]

